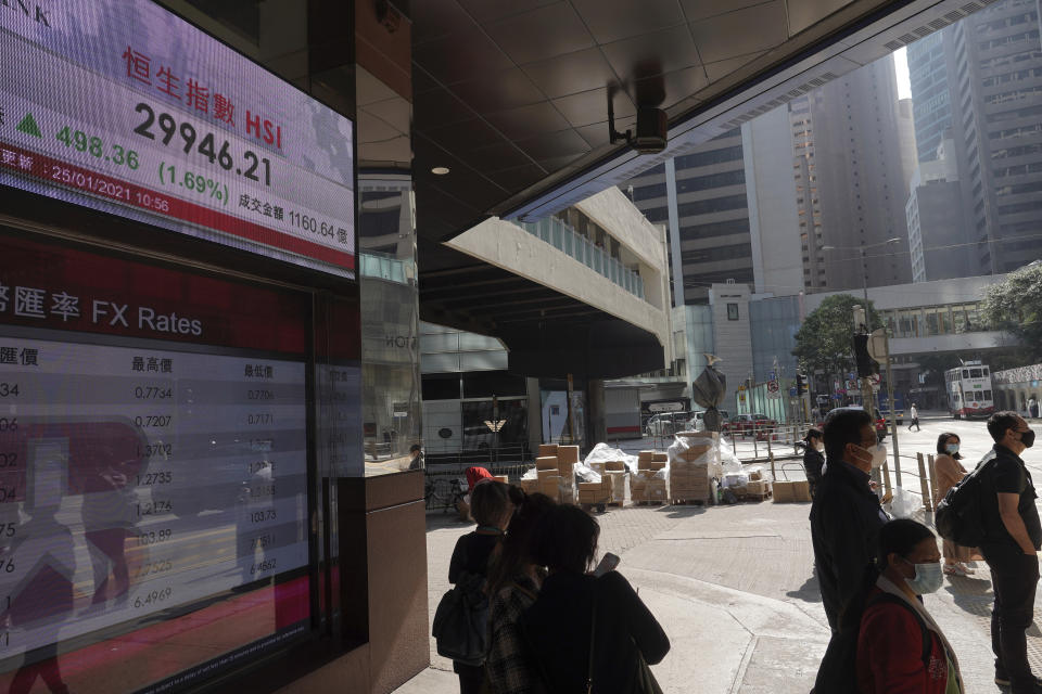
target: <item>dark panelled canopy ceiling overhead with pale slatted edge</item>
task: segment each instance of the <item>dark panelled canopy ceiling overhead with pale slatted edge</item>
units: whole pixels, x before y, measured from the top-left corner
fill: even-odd
[[[538,293],[444,242],[492,215],[568,207],[992,1],[410,0],[422,318],[501,337],[555,313],[602,321],[550,290],[556,310],[499,324],[454,290],[460,277],[490,271],[504,296]],[[621,131],[638,105],[664,108],[666,151],[609,142],[609,99]]]

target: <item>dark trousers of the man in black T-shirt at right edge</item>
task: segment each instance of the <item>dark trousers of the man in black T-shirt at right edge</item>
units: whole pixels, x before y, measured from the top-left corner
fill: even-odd
[[[990,553],[989,553],[990,554]],[[1034,618],[1039,560],[1033,554],[988,557],[995,606],[991,611],[991,650],[996,674],[1009,678],[1014,694],[1034,692],[1025,631]]]

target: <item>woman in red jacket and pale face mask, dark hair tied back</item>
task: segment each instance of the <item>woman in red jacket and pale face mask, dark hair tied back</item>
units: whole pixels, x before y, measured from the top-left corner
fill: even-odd
[[[937,538],[899,518],[879,530],[882,574],[868,593],[857,638],[861,694],[962,694],[958,660],[922,595],[944,582]]]

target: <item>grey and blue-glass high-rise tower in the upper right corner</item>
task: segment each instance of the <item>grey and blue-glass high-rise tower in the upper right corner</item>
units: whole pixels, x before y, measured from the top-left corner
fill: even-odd
[[[974,274],[1042,257],[1039,15],[1004,0],[908,46],[919,159],[950,128]]]

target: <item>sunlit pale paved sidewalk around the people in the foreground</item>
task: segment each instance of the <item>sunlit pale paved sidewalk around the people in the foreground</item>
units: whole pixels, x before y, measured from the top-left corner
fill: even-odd
[[[619,570],[639,590],[672,641],[653,666],[664,692],[806,694],[828,642],[813,576],[810,504],[638,506],[597,516],[600,550],[622,557]],[[456,539],[472,529],[428,515],[430,611],[448,590]],[[967,694],[999,692],[989,615],[991,583],[981,564],[974,578],[945,580],[926,605],[956,650]],[[1038,620],[1042,624],[1042,619]],[[1042,673],[1042,632],[1028,632],[1029,656]],[[452,663],[431,641],[431,667],[402,694],[459,690]]]

